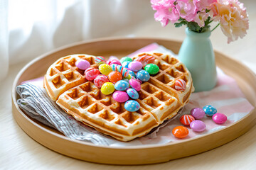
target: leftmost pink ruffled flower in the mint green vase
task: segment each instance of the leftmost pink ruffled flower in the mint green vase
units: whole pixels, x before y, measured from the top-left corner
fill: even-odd
[[[175,0],[151,0],[151,6],[156,10],[154,18],[156,21],[160,21],[162,26],[166,26],[169,21],[176,23],[180,17],[175,8],[174,1]]]

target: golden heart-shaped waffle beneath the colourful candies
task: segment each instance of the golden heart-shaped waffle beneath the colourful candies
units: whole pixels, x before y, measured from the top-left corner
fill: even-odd
[[[84,59],[97,68],[92,55],[60,58],[46,72],[44,87],[50,98],[76,120],[117,140],[133,140],[173,118],[193,92],[191,74],[176,58],[161,53],[142,53],[132,59],[142,55],[154,56],[160,71],[141,85],[136,100],[140,108],[136,112],[127,111],[124,103],[114,101],[112,95],[102,94],[92,81],[85,79],[84,71],[75,67],[77,60]],[[185,91],[176,91],[177,79],[186,81]]]

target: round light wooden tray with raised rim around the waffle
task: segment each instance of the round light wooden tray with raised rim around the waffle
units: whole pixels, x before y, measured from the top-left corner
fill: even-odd
[[[88,162],[103,164],[154,164],[167,162],[171,159],[188,157],[193,154],[206,152],[227,142],[234,140],[250,130],[256,123],[255,109],[245,118],[233,125],[201,137],[181,140],[164,145],[146,145],[138,147],[107,147],[93,145],[89,142],[70,140],[60,132],[48,128],[46,125],[28,117],[16,103],[16,86],[22,81],[43,76],[46,70],[55,60],[65,55],[85,53],[90,55],[102,55],[109,57],[115,55],[124,57],[141,47],[156,42],[177,53],[181,42],[166,39],[153,38],[117,38],[100,39],[90,42],[80,42],[75,45],[62,47],[36,58],[24,67],[17,75],[12,89],[13,115],[18,125],[33,140],[60,154]],[[218,67],[236,79],[240,89],[252,106],[256,106],[256,77],[253,72],[238,61],[227,57],[220,52],[215,52],[215,60]]]

